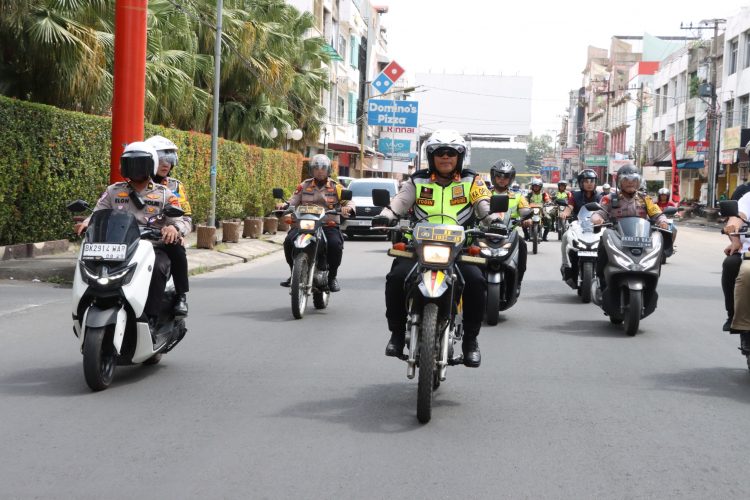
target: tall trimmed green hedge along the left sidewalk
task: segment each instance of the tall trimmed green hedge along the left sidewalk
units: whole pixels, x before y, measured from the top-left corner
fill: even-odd
[[[109,183],[111,120],[0,96],[0,245],[71,236],[65,205],[96,202]],[[193,220],[208,220],[211,138],[197,132],[146,125],[177,144],[174,171],[183,181]],[[302,169],[298,154],[219,141],[216,218],[264,215],[271,189],[288,192]]]

